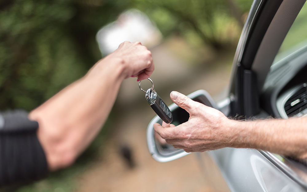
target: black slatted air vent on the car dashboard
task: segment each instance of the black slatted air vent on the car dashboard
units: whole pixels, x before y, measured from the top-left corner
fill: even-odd
[[[296,89],[284,108],[288,117],[303,116],[307,113],[307,84],[304,83]]]

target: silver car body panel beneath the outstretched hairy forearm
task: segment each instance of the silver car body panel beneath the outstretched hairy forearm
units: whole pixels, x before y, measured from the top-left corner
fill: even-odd
[[[209,154],[232,192],[306,191],[255,149],[223,148]]]

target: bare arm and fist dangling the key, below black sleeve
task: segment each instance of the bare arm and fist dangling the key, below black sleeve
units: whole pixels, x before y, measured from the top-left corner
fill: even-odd
[[[91,143],[106,121],[122,80],[146,79],[153,72],[150,51],[139,42],[124,42],[98,61],[80,80],[34,109],[38,139],[50,170],[67,167]]]

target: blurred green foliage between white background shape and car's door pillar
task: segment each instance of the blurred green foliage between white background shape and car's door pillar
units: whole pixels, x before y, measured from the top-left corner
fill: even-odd
[[[145,11],[164,35],[175,33],[187,37],[193,34],[198,43],[211,45],[218,50],[229,43],[237,43],[237,31],[235,42],[232,41],[233,37],[227,35],[231,29],[229,24],[241,32],[243,13],[249,10],[251,1],[135,0],[134,6]]]

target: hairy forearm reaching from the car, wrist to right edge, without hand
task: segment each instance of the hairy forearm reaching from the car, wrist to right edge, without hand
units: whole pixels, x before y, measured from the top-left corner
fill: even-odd
[[[307,118],[232,121],[237,147],[307,158]]]

